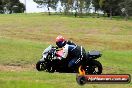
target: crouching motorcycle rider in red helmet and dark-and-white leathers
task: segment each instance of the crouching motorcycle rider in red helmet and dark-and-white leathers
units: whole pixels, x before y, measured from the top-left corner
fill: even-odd
[[[56,45],[59,48],[63,48],[62,59],[69,59],[68,67],[74,67],[80,60],[86,56],[85,49],[82,46],[78,46],[72,41],[66,41],[65,38],[59,35],[56,38]]]

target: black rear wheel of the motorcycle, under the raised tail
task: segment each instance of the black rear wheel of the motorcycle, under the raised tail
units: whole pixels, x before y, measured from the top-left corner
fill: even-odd
[[[102,64],[97,60],[91,60],[85,66],[86,74],[101,74],[102,69]]]

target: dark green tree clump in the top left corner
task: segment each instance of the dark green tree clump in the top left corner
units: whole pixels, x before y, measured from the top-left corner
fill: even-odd
[[[0,0],[0,13],[23,13],[25,11],[25,5],[19,0]]]

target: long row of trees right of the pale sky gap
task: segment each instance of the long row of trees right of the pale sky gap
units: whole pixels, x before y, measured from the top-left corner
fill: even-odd
[[[64,9],[64,14],[69,15],[75,12],[75,16],[89,13],[90,7],[94,7],[95,13],[102,11],[108,17],[132,15],[132,0],[33,0],[39,5],[47,7],[50,15],[50,8],[56,10],[58,2]]]

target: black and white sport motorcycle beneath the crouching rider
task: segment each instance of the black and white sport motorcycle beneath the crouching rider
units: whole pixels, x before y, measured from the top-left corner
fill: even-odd
[[[102,64],[96,60],[102,56],[99,51],[87,52],[85,59],[79,58],[76,61],[75,68],[69,68],[69,59],[61,59],[62,55],[63,50],[59,50],[57,47],[50,45],[43,51],[42,58],[36,63],[36,69],[38,71],[46,71],[50,73],[78,73],[79,66],[82,66],[86,74],[102,73]]]

